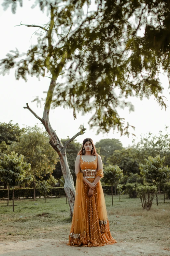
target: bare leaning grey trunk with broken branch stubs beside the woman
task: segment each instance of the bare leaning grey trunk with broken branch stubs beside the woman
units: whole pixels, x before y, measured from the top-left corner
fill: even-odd
[[[54,148],[54,150],[59,155],[61,169],[62,169],[62,173],[63,173],[64,180],[65,180],[64,191],[65,191],[65,194],[66,194],[67,199],[68,199],[68,203],[69,203],[69,206],[70,206],[70,216],[72,218],[76,192],[75,192],[75,188],[74,188],[73,177],[71,175],[71,172],[70,172],[70,169],[69,169],[69,166],[68,166],[65,151],[66,151],[67,145],[71,141],[73,141],[76,137],[83,134],[84,131],[86,130],[86,128],[83,127],[77,134],[75,134],[72,138],[70,138],[68,141],[66,141],[64,146],[63,146],[63,144],[60,142],[56,132],[51,127],[50,121],[49,121],[50,105],[51,105],[51,102],[52,102],[52,96],[53,96],[54,88],[56,86],[56,80],[57,80],[57,77],[60,75],[60,72],[62,71],[62,68],[65,64],[65,60],[66,60],[67,57],[68,57],[68,53],[64,53],[60,63],[58,64],[58,67],[55,70],[55,74],[52,75],[52,78],[51,78],[51,81],[50,81],[50,86],[49,86],[47,97],[46,97],[45,106],[44,106],[43,118],[40,118],[39,116],[37,116],[37,114],[35,114],[35,112],[30,109],[30,107],[28,106],[28,103],[26,104],[27,106],[24,107],[24,109],[28,109],[29,111],[31,111],[31,113],[37,119],[39,119],[42,122],[42,124],[44,125],[44,127],[45,127],[45,129],[46,129],[46,131],[49,135],[50,145]],[[61,124],[61,122],[58,122],[58,123]],[[34,197],[34,200],[35,200],[35,197]]]

